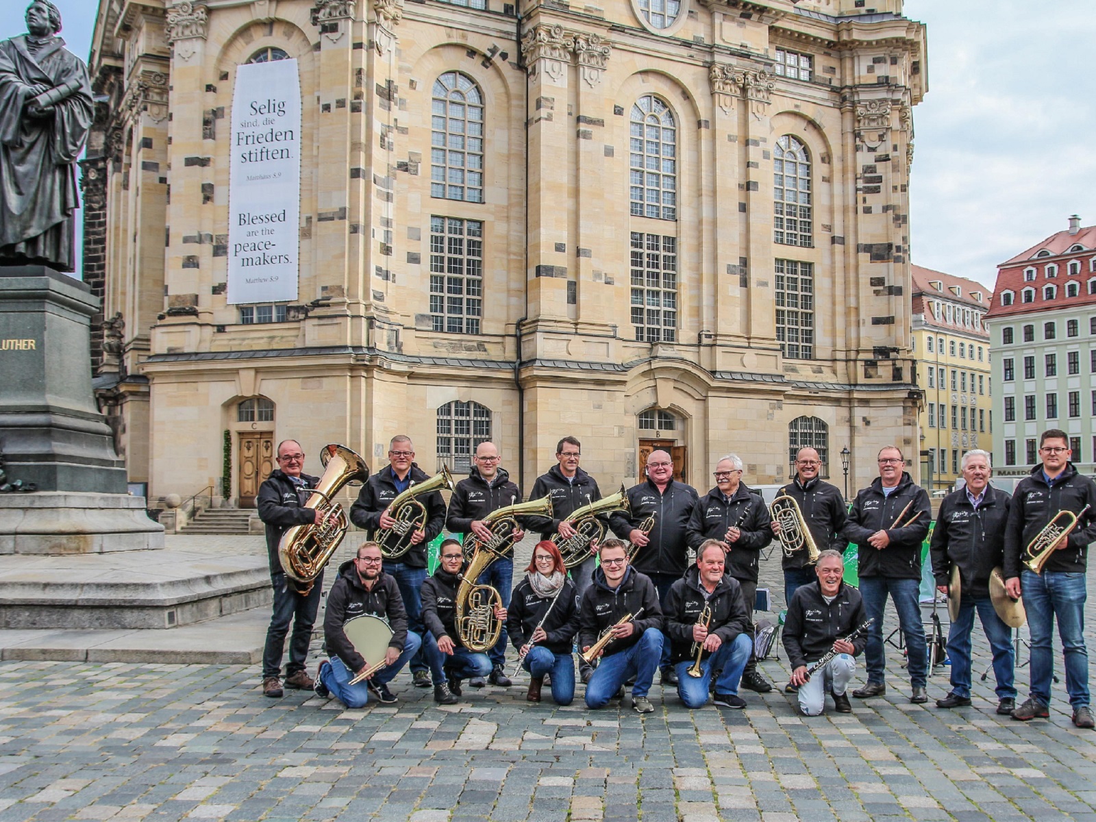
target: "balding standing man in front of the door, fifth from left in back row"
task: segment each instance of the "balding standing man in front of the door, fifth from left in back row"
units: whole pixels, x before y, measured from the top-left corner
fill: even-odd
[[[688,521],[699,500],[696,489],[674,479],[674,463],[664,450],[652,450],[643,469],[647,480],[628,490],[626,516],[616,511],[609,516],[613,533],[631,543],[635,553],[629,564],[651,578],[659,592],[659,604],[666,612],[670,586],[688,568]],[[649,534],[639,526],[654,517]],[[662,684],[677,684],[677,674],[670,664],[670,643],[662,646]],[[737,685],[737,683],[735,683]]]

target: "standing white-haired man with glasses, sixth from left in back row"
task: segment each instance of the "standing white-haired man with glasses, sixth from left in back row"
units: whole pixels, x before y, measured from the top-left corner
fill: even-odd
[[[716,487],[701,499],[688,524],[688,543],[699,549],[705,539],[718,539],[727,548],[727,573],[739,581],[746,610],[751,614],[757,594],[757,558],[773,541],[772,520],[761,494],[742,481],[742,460],[728,454],[716,464]],[[757,657],[750,654],[742,674],[742,687],[766,694],[773,683],[757,671]]]

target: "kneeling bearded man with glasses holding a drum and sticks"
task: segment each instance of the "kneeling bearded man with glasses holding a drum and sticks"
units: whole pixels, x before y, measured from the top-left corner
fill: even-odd
[[[327,699],[332,694],[347,708],[363,708],[372,690],[385,705],[396,701],[388,683],[415,654],[422,639],[408,630],[407,612],[399,585],[380,570],[380,546],[363,543],[354,559],[339,567],[339,579],[328,592],[328,607],[323,614],[323,640],[330,660],[320,663],[316,673],[316,694]],[[385,651],[385,666],[372,677],[351,685],[351,680],[366,669],[366,660],[346,638],[346,621],[359,616],[384,619],[392,629],[392,638]],[[369,660],[376,663],[377,660]]]

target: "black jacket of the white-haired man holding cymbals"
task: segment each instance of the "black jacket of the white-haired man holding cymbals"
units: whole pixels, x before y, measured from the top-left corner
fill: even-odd
[[[990,573],[1005,559],[1005,525],[1012,499],[993,486],[986,486],[978,510],[967,499],[967,489],[960,488],[944,498],[929,556],[933,558],[933,576],[937,585],[947,585],[951,566],[959,566],[962,593],[972,596],[990,595]]]

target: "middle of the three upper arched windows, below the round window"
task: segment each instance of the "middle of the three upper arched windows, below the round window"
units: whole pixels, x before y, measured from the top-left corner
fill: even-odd
[[[631,215],[677,219],[677,125],[670,106],[647,94],[631,106]]]

